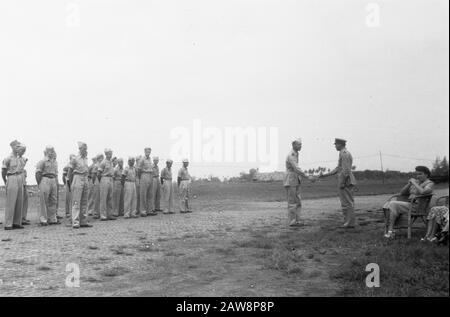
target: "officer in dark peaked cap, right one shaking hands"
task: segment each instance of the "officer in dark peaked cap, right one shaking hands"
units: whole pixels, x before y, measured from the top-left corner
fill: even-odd
[[[338,193],[341,201],[342,212],[345,217],[345,223],[342,228],[355,227],[355,201],[353,192],[356,186],[356,179],[352,173],[353,158],[346,148],[347,141],[344,139],[335,139],[334,146],[339,151],[338,166],[330,173],[320,175],[321,178],[332,175],[338,175]]]

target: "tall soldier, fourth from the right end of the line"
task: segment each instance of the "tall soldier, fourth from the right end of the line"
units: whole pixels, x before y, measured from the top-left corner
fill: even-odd
[[[154,216],[156,213],[152,210],[151,197],[153,193],[153,165],[150,154],[151,148],[146,148],[145,156],[139,161],[138,177],[141,190],[141,216]]]

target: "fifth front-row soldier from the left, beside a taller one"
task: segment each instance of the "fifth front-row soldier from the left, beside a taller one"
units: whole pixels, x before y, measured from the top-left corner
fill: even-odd
[[[137,218],[137,190],[136,168],[134,157],[128,159],[128,166],[122,171],[122,185],[124,188],[124,218]]]

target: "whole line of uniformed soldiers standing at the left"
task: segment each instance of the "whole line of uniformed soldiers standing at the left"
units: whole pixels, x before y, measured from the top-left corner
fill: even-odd
[[[28,192],[26,190],[27,160],[23,157],[26,147],[18,141],[10,144],[12,153],[4,161],[2,177],[6,185],[5,230],[22,229],[27,220]],[[87,145],[78,143],[78,155],[71,155],[63,169],[65,186],[65,214],[73,228],[91,227],[87,216],[102,221],[115,220],[119,216],[136,218],[174,213],[174,189],[172,160],[159,172],[158,157],[150,158],[151,149],[144,156],[128,159],[124,167],[122,159],[112,157],[112,150],[99,154],[88,165]],[[136,166],[135,166],[136,165]],[[177,183],[180,195],[180,212],[192,212],[189,208],[191,177],[189,162],[183,160]],[[59,185],[56,152],[47,146],[44,159],[36,165],[36,182],[39,187],[39,225],[60,224],[58,216]],[[161,209],[161,199],[164,209]]]

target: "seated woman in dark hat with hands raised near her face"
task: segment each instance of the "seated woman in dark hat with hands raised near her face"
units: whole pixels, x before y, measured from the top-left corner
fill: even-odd
[[[402,188],[400,195],[407,199],[389,201],[383,208],[389,209],[389,228],[384,235],[385,238],[393,238],[395,235],[395,221],[403,214],[408,213],[411,208],[411,201],[420,195],[433,194],[434,183],[429,179],[430,170],[426,166],[416,167],[416,178],[411,178],[408,184]]]

